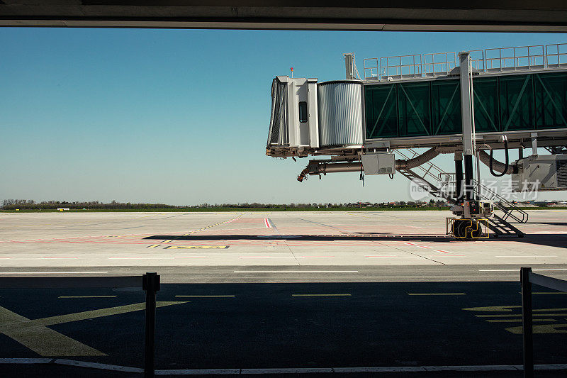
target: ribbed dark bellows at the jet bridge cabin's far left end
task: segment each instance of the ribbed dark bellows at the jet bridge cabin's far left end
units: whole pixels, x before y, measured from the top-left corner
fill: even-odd
[[[288,119],[287,119],[287,93],[286,83],[274,79],[271,84],[271,116],[268,145],[288,145]]]

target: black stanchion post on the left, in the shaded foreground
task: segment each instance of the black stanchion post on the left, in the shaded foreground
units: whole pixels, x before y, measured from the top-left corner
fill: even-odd
[[[155,372],[155,295],[159,290],[159,275],[157,273],[144,274],[142,276],[142,289],[146,292],[144,377],[153,378]]]

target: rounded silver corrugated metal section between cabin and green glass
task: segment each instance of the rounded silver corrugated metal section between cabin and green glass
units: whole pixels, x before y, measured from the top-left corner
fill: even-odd
[[[318,84],[320,146],[362,144],[360,82]]]

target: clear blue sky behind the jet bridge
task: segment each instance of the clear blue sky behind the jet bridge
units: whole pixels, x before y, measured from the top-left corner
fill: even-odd
[[[301,184],[307,160],[266,157],[271,79],[342,79],[343,52],[361,71],[364,57],[546,43],[567,35],[0,28],[0,199],[407,200],[400,175]]]

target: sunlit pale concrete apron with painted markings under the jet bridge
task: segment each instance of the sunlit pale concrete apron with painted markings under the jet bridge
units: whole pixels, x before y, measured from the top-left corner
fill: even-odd
[[[567,269],[567,211],[529,214],[530,223],[518,225],[524,238],[466,242],[444,235],[448,211],[0,213],[0,274],[28,267],[179,267],[178,276],[184,267]],[[479,269],[471,268],[472,279]]]

